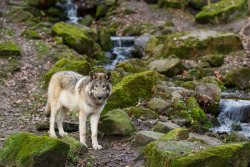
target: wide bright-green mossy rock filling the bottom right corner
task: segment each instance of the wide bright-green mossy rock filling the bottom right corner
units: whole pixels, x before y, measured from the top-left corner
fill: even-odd
[[[170,167],[191,166],[248,166],[250,162],[250,143],[228,144],[203,149],[197,153],[171,159]]]

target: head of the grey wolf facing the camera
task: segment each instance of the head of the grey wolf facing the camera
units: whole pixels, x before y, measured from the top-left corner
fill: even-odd
[[[95,104],[103,104],[112,93],[112,74],[110,72],[89,74],[88,94]]]

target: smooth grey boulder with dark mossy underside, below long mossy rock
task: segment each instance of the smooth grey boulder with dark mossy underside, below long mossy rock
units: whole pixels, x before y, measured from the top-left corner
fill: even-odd
[[[167,77],[173,77],[183,72],[181,60],[178,57],[169,57],[149,63],[150,70],[156,70]]]

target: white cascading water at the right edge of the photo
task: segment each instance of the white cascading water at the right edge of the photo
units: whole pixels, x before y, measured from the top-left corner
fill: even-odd
[[[240,133],[250,138],[250,101],[249,100],[234,100],[222,99],[220,102],[220,114],[217,117],[220,126],[214,127],[211,130],[215,132],[232,131],[232,125],[240,125]]]

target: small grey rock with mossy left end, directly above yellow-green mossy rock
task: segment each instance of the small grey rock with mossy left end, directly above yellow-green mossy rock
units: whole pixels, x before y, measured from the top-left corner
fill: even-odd
[[[180,126],[175,124],[175,123],[172,123],[172,122],[158,122],[155,125],[153,131],[166,134],[166,133],[170,132],[171,130],[174,130],[177,128],[180,128]]]

